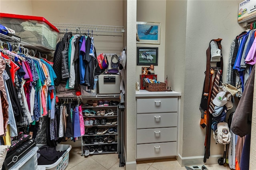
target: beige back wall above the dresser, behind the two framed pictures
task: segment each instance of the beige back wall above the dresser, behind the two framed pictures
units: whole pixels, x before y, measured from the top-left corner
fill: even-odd
[[[158,65],[154,66],[157,80],[164,82],[164,58],[165,58],[165,17],[166,17],[166,0],[137,0],[137,21],[160,22],[160,44],[141,44],[137,47],[158,47]],[[136,80],[140,82],[141,68],[143,65],[136,67]],[[149,67],[149,65],[148,65]]]

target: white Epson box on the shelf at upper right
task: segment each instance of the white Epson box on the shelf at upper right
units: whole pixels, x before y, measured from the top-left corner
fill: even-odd
[[[239,4],[238,23],[250,22],[256,19],[256,0],[244,0]]]

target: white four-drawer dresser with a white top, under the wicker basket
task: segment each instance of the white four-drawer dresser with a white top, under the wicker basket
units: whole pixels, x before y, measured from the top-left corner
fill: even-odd
[[[137,159],[177,155],[180,96],[174,91],[136,91]]]

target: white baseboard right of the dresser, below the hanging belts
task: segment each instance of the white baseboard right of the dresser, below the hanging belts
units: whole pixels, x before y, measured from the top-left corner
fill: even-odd
[[[207,165],[207,164],[218,164],[218,159],[223,157],[223,155],[211,155],[209,159],[204,163],[204,156],[189,156],[182,157],[180,154],[176,156],[176,160],[181,166],[191,166],[191,165]]]

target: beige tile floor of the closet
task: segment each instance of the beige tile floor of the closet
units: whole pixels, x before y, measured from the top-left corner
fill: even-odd
[[[230,170],[227,164],[206,165],[208,170]],[[119,167],[118,154],[98,154],[88,157],[81,156],[81,147],[74,147],[69,152],[66,170],[125,170]],[[137,170],[186,170],[175,158],[161,160],[144,160],[137,162]]]

